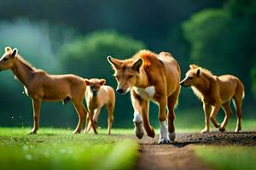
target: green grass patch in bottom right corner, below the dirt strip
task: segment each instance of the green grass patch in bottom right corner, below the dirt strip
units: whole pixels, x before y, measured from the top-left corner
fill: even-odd
[[[247,146],[198,146],[195,154],[218,170],[255,169],[256,148]]]

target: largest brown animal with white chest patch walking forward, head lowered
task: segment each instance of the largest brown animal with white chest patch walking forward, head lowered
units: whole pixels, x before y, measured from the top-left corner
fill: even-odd
[[[148,103],[154,101],[159,106],[159,144],[175,139],[174,108],[179,94],[180,67],[172,54],[154,54],[141,50],[130,59],[114,59],[108,56],[118,82],[117,92],[126,94],[131,90],[131,103],[134,109],[135,133],[143,138],[143,127],[149,137],[154,138],[154,128],[148,120]],[[166,125],[166,108],[168,127]]]

